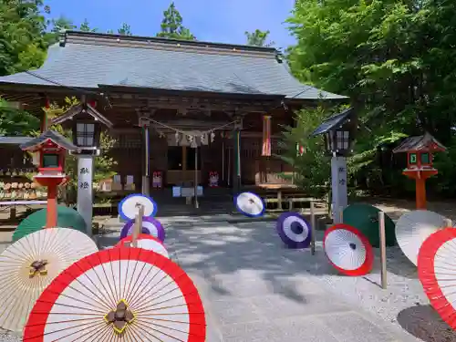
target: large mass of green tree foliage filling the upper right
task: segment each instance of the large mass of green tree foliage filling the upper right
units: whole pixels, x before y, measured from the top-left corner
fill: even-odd
[[[358,136],[350,161],[358,181],[403,180],[398,168],[391,169],[399,157],[390,147],[404,134],[429,131],[456,147],[455,11],[456,3],[447,0],[295,2],[287,20],[297,41],[288,49],[293,73],[350,97],[363,127],[371,130]],[[441,154],[439,159],[451,163],[439,179],[455,177],[456,161]],[[445,184],[438,189],[456,192],[456,184],[451,190]]]

